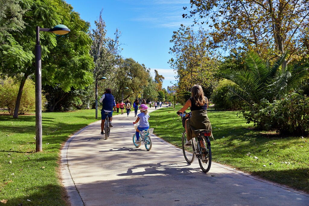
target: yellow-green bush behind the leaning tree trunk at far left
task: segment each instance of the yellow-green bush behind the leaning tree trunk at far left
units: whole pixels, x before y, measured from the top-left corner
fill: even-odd
[[[18,90],[19,84],[14,82],[12,78],[7,78],[0,84],[0,107],[7,108],[10,115],[14,114]],[[46,99],[42,95],[42,104],[44,105],[45,102]],[[27,79],[23,87],[18,114],[35,111],[35,107],[35,85],[32,80]]]

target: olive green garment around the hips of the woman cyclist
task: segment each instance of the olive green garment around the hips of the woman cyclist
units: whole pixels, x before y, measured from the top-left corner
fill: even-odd
[[[187,140],[197,137],[202,130],[211,132],[211,124],[207,116],[206,110],[192,111],[192,116],[187,121]]]

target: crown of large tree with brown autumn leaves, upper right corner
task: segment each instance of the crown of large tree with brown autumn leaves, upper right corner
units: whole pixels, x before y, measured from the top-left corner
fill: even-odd
[[[263,58],[302,57],[308,46],[309,2],[290,0],[191,0],[184,18],[202,19],[210,27],[210,48],[255,51]],[[187,7],[184,7],[186,10]],[[308,46],[309,48],[309,46]]]

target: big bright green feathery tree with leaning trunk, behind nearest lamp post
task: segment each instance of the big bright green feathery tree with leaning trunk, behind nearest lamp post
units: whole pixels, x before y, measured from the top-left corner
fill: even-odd
[[[23,86],[28,77],[33,77],[34,46],[36,43],[35,27],[53,28],[57,24],[65,24],[71,28],[66,35],[54,35],[50,32],[41,32],[42,44],[42,85],[59,85],[59,88],[69,92],[84,88],[91,84],[93,60],[89,54],[91,39],[87,35],[89,23],[80,19],[73,7],[62,0],[21,1],[19,5],[26,10],[23,19],[26,23],[23,32],[12,31],[11,36],[18,44],[24,56],[15,59],[10,53],[2,52],[4,57],[1,63],[3,74],[20,79],[19,93],[14,111],[18,117],[18,108]],[[17,58],[17,59],[16,59]],[[17,61],[14,61],[17,60]]]

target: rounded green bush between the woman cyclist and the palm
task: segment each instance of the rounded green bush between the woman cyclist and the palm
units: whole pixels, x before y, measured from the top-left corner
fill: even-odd
[[[240,110],[241,107],[239,103],[236,101],[231,101],[228,95],[227,86],[235,85],[235,83],[229,80],[220,80],[218,86],[215,88],[211,100],[214,103],[215,109],[223,109],[223,110]]]

